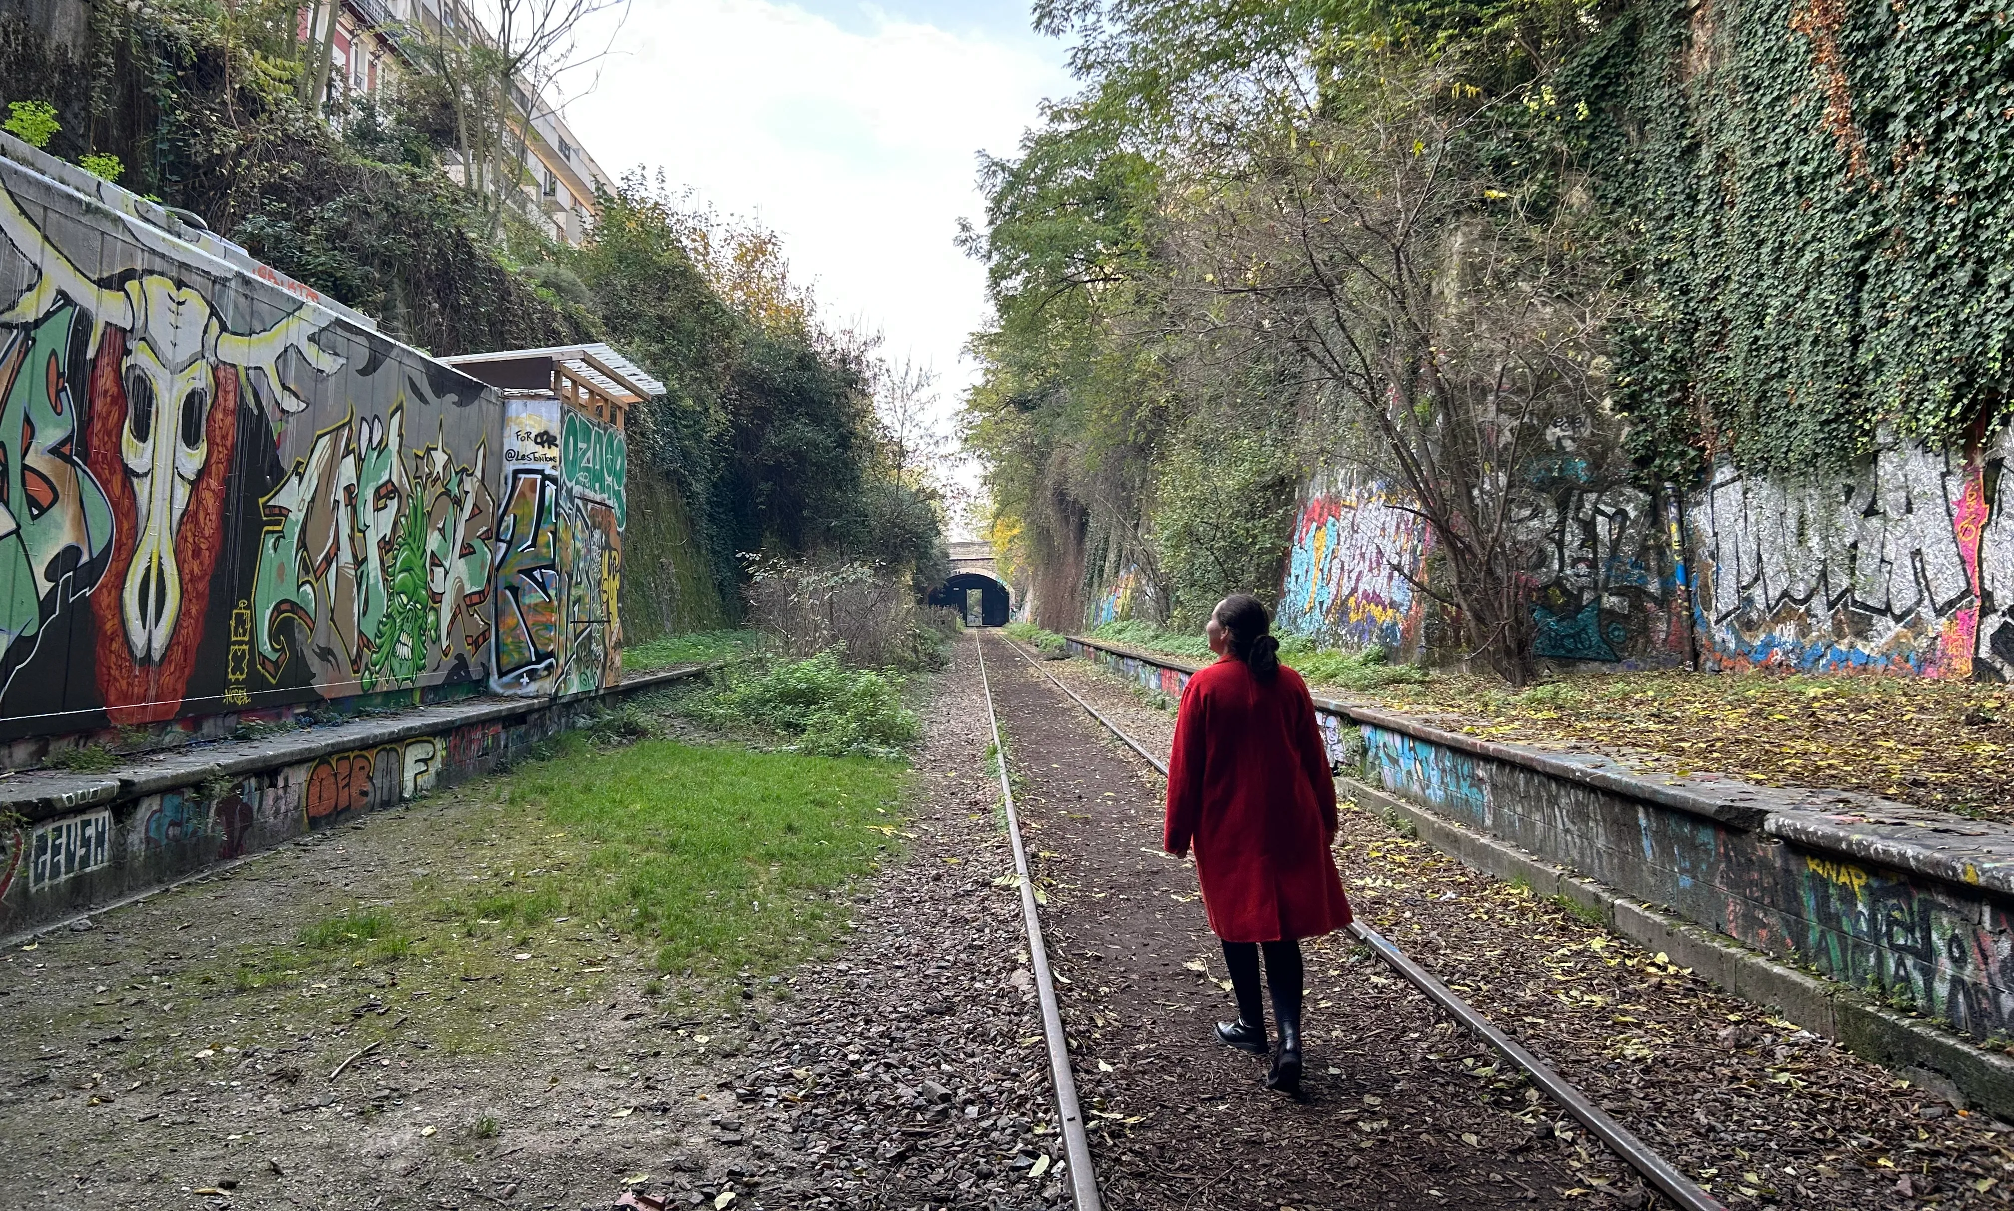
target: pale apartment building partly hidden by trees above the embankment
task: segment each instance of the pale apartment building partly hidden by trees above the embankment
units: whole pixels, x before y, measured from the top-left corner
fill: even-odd
[[[463,0],[326,0],[336,6],[330,99],[377,97],[391,87],[401,66],[411,66],[407,38],[445,36],[487,40],[487,30]],[[326,8],[312,20],[320,22]],[[306,36],[310,16],[302,16]],[[320,24],[316,24],[320,28]],[[520,214],[562,244],[580,244],[594,222],[596,189],[612,189],[614,177],[594,163],[566,117],[544,97],[514,87],[518,121],[526,125],[526,173],[520,185]],[[463,179],[465,165],[447,165]],[[508,187],[493,183],[491,187]]]

